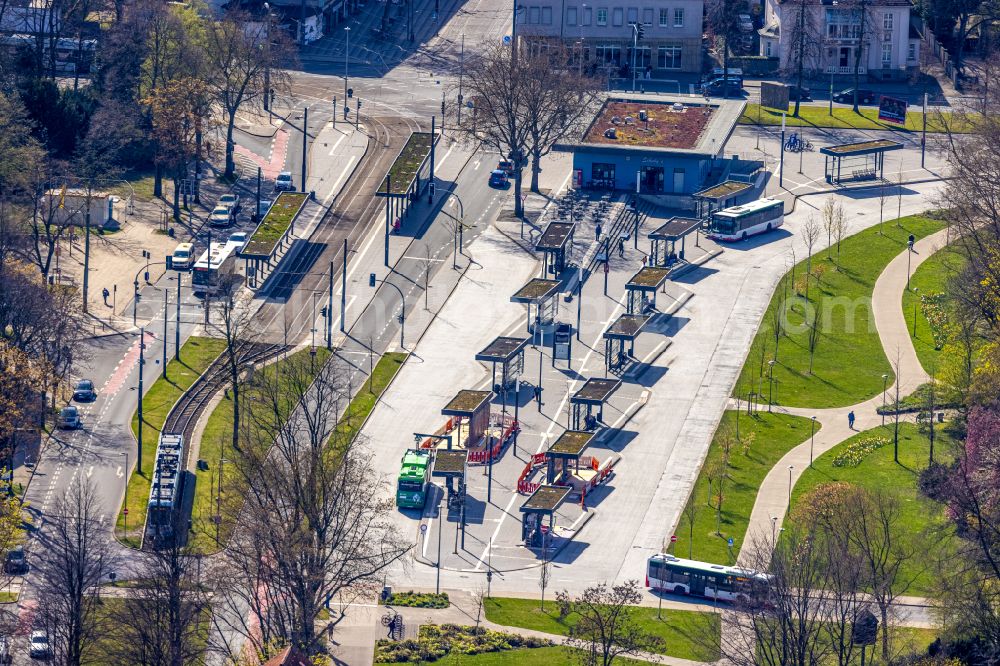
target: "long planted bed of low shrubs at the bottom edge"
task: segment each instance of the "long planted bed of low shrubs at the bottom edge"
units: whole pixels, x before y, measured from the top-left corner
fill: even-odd
[[[517,648],[540,648],[553,645],[546,638],[529,638],[485,627],[465,627],[457,624],[425,624],[416,640],[390,641],[375,644],[376,664],[417,663],[437,661],[451,653],[475,655],[502,652]]]

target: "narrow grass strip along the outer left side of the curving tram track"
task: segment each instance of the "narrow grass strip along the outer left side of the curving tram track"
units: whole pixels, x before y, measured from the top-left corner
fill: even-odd
[[[157,379],[142,400],[142,468],[136,465],[135,471],[129,477],[126,490],[126,502],[118,512],[118,522],[115,531],[122,543],[138,548],[142,541],[142,528],[146,522],[146,506],[149,502],[149,484],[153,474],[153,463],[156,458],[156,445],[159,443],[160,429],[167,420],[167,414],[198,377],[212,364],[226,348],[225,340],[215,338],[191,337],[181,347],[180,360],[171,360],[167,364],[167,377]],[[149,367],[149,366],[147,366]],[[132,415],[132,434],[138,439],[139,414]],[[134,453],[129,463],[135,463]],[[124,462],[124,460],[123,460]],[[124,508],[128,507],[128,533],[125,533],[126,516]]]

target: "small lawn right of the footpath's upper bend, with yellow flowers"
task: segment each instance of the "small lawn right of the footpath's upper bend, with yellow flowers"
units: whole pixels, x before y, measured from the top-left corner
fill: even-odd
[[[943,322],[938,321],[934,328],[928,320],[945,317],[950,313],[951,306],[947,300],[948,281],[961,271],[965,258],[954,248],[944,247],[930,257],[913,272],[910,277],[910,289],[903,292],[903,318],[910,329],[910,339],[913,348],[920,359],[920,365],[925,372],[937,371],[941,362],[941,349],[938,345],[943,341]],[[917,325],[913,327],[914,305],[916,305]],[[934,340],[937,333],[939,340]]]

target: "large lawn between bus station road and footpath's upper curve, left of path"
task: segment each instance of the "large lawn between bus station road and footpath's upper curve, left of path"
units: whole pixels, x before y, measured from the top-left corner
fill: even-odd
[[[850,214],[850,213],[848,213]],[[806,262],[799,262],[778,283],[743,365],[735,395],[751,391],[770,393],[767,362],[775,358],[774,321],[781,316],[783,335],[774,364],[775,404],[793,407],[853,405],[882,391],[882,375],[893,372],[875,329],[871,297],[875,281],[885,266],[906,250],[909,234],[918,239],[942,229],[944,224],[913,215],[886,221],[850,236],[836,249],[813,253],[809,301],[804,297]],[[825,238],[823,240],[826,240]],[[828,258],[832,257],[832,258]],[[817,275],[822,271],[821,275]],[[803,295],[796,295],[796,286]],[[783,295],[787,294],[787,301]],[[807,317],[808,315],[808,317]],[[809,372],[810,323],[818,319],[812,373]]]

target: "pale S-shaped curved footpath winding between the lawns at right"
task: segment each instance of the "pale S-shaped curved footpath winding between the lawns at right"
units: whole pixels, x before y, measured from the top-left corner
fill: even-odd
[[[944,246],[947,235],[948,229],[942,229],[914,244],[914,254],[910,258],[909,268],[911,275],[924,260]],[[906,255],[907,252],[903,251],[889,262],[876,280],[872,292],[872,313],[882,348],[890,363],[896,363],[898,354],[896,382],[899,384],[900,397],[912,393],[929,379],[917,358],[903,315],[903,292],[906,290],[907,281]],[[894,386],[887,395],[895,396]],[[816,421],[822,426],[816,431],[813,443],[813,457],[818,458],[858,432],[881,425],[882,417],[875,411],[881,404],[882,396],[877,395],[870,400],[847,407],[809,409],[775,406],[774,411],[806,418],[816,417]],[[847,426],[847,414],[851,411],[856,417],[854,430]],[[757,491],[757,499],[750,514],[743,546],[737,558],[740,564],[747,564],[749,553],[759,552],[758,549],[772,545],[772,530],[780,528],[785,519],[789,492],[809,466],[809,450],[810,441],[807,439],[786,453],[764,478]]]

